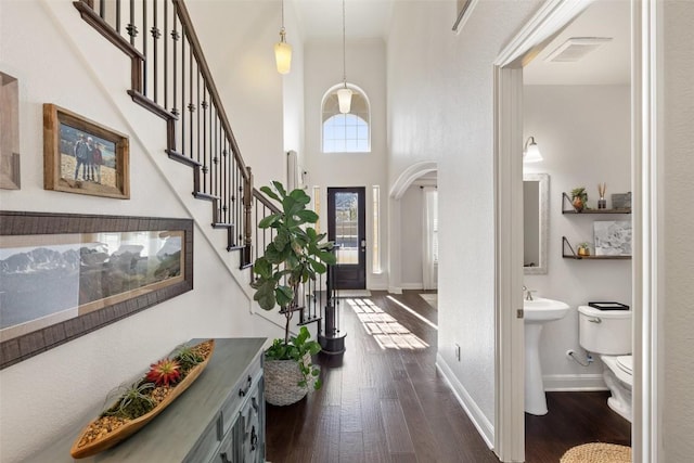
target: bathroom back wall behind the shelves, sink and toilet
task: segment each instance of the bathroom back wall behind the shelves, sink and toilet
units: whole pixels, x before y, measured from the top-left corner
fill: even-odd
[[[597,183],[612,193],[631,191],[631,129],[629,86],[525,86],[524,139],[535,137],[544,160],[525,171],[550,175],[549,271],[525,275],[536,295],[563,300],[571,309],[548,323],[540,338],[540,362],[548,389],[604,387],[602,364],[583,368],[566,358],[578,344],[578,306],[591,300],[616,300],[631,306],[631,260],[562,258],[562,236],[571,245],[593,242],[593,222],[631,220],[630,215],[563,215],[562,192],[586,187],[589,206],[596,208]],[[591,249],[594,252],[594,249]]]

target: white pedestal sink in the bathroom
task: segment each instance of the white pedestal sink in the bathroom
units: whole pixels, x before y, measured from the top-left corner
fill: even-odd
[[[561,300],[536,297],[524,300],[525,321],[525,411],[534,415],[547,414],[547,397],[540,368],[540,333],[544,323],[560,320],[568,312],[568,306]]]

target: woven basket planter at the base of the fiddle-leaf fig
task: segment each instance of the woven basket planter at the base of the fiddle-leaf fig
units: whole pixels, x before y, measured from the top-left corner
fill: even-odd
[[[305,357],[305,362],[310,357]],[[290,406],[306,397],[308,386],[298,383],[304,380],[299,365],[294,360],[266,360],[265,400],[273,406]]]

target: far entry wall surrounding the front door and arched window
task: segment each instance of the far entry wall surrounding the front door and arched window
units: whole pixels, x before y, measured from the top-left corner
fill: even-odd
[[[320,211],[323,232],[327,231],[327,187],[367,188],[367,243],[372,237],[371,187],[381,187],[382,230],[387,217],[386,194],[386,69],[385,44],[382,40],[347,42],[347,81],[361,88],[371,105],[370,153],[321,152],[321,102],[325,92],[342,82],[342,41],[324,40],[305,44],[305,120],[308,185],[321,188],[323,210]],[[387,235],[381,233],[382,260],[385,259]],[[367,246],[367,287],[384,290],[387,274],[371,272],[371,246]]]

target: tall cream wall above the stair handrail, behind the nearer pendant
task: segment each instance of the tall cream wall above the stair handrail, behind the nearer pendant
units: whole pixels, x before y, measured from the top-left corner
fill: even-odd
[[[253,168],[256,188],[271,180],[286,181],[283,77],[277,72],[273,50],[280,37],[280,3],[196,0],[185,4],[241,153]],[[292,22],[285,23],[288,26],[295,20],[292,9],[286,12]],[[288,33],[292,38],[293,31]],[[293,70],[300,69],[300,42],[296,44],[297,64]],[[296,87],[295,76],[284,79]],[[291,128],[298,129],[296,125]],[[298,137],[293,138],[292,144],[297,141]],[[299,149],[300,145],[287,147]]]

